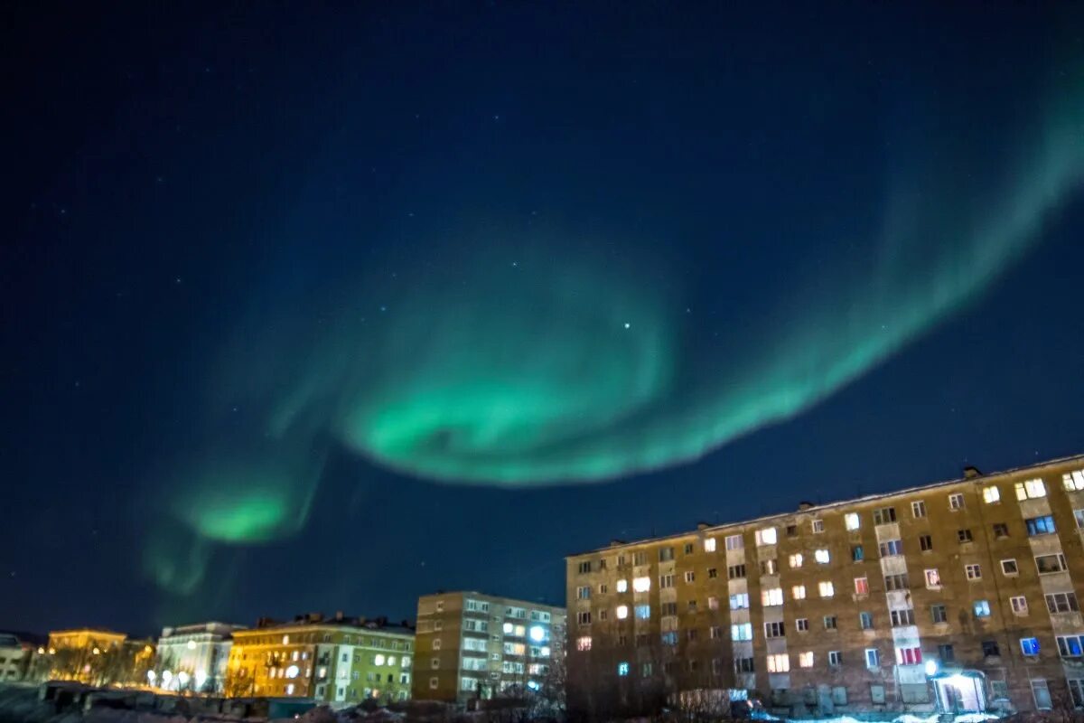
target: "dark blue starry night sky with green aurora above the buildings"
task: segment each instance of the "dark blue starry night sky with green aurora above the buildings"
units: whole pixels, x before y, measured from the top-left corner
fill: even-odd
[[[1067,8],[147,4],[3,11],[0,628],[1084,452]]]

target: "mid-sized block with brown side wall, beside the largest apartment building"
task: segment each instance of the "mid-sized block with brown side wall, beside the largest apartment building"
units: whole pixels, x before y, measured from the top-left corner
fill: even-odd
[[[417,601],[414,698],[465,703],[539,689],[564,655],[565,608],[476,592]]]

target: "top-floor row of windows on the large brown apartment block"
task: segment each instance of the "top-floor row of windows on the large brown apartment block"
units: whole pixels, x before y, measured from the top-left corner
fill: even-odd
[[[1067,473],[1062,476],[1062,486],[1067,491],[1080,491],[1084,490],[1084,469],[1074,470]],[[1034,500],[1040,498],[1045,498],[1047,494],[1046,483],[1040,479],[1029,479],[1022,482],[1016,482],[1014,485],[1014,491],[1018,501]],[[983,502],[986,504],[993,504],[999,502],[1002,499],[1001,489],[996,485],[989,485],[982,488],[981,496]],[[951,511],[958,511],[965,507],[964,494],[962,492],[953,492],[947,495],[947,506]],[[911,514],[912,517],[922,518],[927,516],[926,502],[922,500],[916,500],[911,503]],[[1074,511],[1074,515],[1077,520],[1079,527],[1084,527],[1084,509]],[[888,525],[896,521],[895,507],[880,507],[873,512],[874,525]],[[857,530],[862,526],[862,518],[859,513],[847,513],[843,515],[843,527],[849,530]],[[1053,520],[1051,520],[1053,526]],[[810,529],[814,534],[818,534],[825,531],[825,522],[823,519],[813,519],[810,521]],[[1030,529],[1030,528],[1029,528]],[[1053,530],[1051,530],[1053,531]],[[788,537],[796,537],[798,534],[797,525],[788,525],[786,527],[786,532]],[[1031,532],[1029,532],[1031,533]],[[774,545],[778,543],[778,530],[775,527],[765,527],[756,530],[753,533],[758,546]],[[740,534],[726,535],[724,538],[726,550],[740,550],[745,546],[744,537]],[[707,538],[704,540],[705,552],[715,551],[715,538]],[[685,554],[692,554],[694,552],[693,543],[685,544]],[[670,561],[674,559],[674,547],[667,546],[660,547],[658,551],[659,561]],[[633,565],[647,565],[647,552],[637,551],[632,553]],[[820,561],[820,560],[818,560]],[[623,567],[627,563],[625,555],[619,555],[617,558],[618,567]],[[605,559],[599,560],[601,569],[605,569]],[[583,560],[580,563],[579,571],[581,573],[591,572],[593,570],[593,565],[591,560]]]

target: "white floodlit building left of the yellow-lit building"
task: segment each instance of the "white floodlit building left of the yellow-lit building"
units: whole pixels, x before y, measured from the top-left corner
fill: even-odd
[[[233,633],[243,625],[205,622],[164,628],[147,682],[165,690],[222,693]]]

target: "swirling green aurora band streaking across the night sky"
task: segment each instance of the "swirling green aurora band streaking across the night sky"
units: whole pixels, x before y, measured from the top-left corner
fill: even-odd
[[[649,256],[616,268],[545,240],[494,271],[469,234],[446,255],[456,271],[423,274],[386,312],[363,281],[319,330],[243,331],[222,384],[262,411],[258,439],[237,453],[224,435],[168,504],[199,538],[266,541],[304,526],[333,443],[422,478],[538,486],[695,460],[796,415],[968,304],[1038,237],[1084,176],[1082,94],[1060,90],[1012,155],[924,138],[928,152],[889,175],[869,258],[743,309],[718,352],[694,351],[702,330],[683,315],[684,289]],[[191,589],[206,563],[193,554],[195,570],[158,569],[159,582]]]

